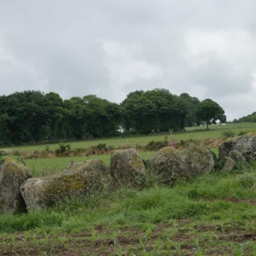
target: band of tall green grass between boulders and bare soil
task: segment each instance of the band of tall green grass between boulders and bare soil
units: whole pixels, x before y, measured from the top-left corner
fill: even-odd
[[[255,205],[233,204],[228,197],[256,200],[256,171],[200,176],[173,187],[154,184],[138,191],[121,188],[90,198],[71,199],[53,208],[22,215],[0,215],[0,232],[35,230],[78,232],[94,225],[137,226],[180,218],[255,219]]]

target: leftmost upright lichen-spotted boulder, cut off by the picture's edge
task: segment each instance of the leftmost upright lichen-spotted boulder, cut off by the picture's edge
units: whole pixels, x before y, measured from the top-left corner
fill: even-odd
[[[23,163],[2,153],[5,157],[1,159],[0,165],[0,211],[5,214],[24,212],[26,205],[19,187],[31,174]]]

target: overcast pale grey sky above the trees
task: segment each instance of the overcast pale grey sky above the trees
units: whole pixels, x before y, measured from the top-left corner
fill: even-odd
[[[165,88],[256,111],[256,1],[0,0],[0,95]]]

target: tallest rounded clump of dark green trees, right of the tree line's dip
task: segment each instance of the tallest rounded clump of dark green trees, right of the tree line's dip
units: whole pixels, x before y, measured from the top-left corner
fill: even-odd
[[[121,103],[124,128],[141,134],[184,130],[186,100],[165,89],[135,91]]]

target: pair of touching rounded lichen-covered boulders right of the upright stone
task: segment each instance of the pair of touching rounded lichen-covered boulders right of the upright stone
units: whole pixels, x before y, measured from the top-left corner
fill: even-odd
[[[163,147],[148,163],[148,170],[164,184],[171,184],[178,178],[188,179],[208,173],[213,168],[214,157],[211,152],[193,144],[183,154],[173,147]]]

